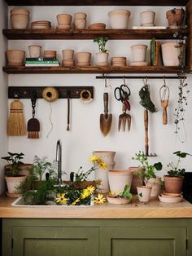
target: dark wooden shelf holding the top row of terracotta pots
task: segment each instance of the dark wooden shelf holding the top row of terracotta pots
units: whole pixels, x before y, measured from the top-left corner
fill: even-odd
[[[174,39],[176,29],[3,29],[7,39],[93,39],[107,36],[109,39]],[[188,35],[189,29],[183,34]]]

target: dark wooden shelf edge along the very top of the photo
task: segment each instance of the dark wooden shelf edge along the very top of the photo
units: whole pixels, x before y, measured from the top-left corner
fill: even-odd
[[[5,0],[10,6],[185,6],[189,0]]]

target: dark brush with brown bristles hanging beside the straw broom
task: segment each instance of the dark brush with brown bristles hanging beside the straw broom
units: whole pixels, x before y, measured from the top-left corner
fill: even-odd
[[[33,90],[31,98],[32,102],[32,118],[28,120],[28,139],[39,139],[40,123],[35,118],[35,107],[37,102],[37,91]]]

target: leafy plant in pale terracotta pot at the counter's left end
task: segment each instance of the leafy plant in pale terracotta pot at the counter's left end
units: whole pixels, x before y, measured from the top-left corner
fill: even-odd
[[[6,183],[7,183],[7,196],[9,197],[19,197],[20,195],[17,192],[17,188],[20,186],[20,183],[23,182],[27,176],[21,175],[20,170],[21,166],[24,163],[21,161],[24,158],[24,153],[13,153],[8,152],[7,157],[2,157],[6,160],[8,165],[5,166],[6,170]]]

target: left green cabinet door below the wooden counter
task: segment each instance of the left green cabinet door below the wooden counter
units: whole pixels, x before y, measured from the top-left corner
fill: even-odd
[[[98,256],[96,227],[13,227],[13,256]]]

